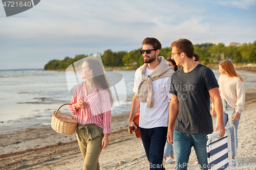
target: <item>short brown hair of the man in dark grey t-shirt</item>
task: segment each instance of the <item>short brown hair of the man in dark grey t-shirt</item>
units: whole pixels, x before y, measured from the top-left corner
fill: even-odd
[[[172,48],[176,47],[179,52],[186,53],[188,58],[193,58],[195,47],[188,39],[179,39],[174,41],[170,46]]]

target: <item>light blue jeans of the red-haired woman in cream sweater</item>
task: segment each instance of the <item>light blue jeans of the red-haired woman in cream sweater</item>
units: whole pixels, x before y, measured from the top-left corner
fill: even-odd
[[[234,125],[234,127],[236,128],[236,136],[237,136],[237,132],[238,132],[238,124],[239,124],[239,120],[241,117],[241,114],[239,115],[238,120],[233,121],[232,116],[233,114],[236,112],[236,109],[231,107],[227,101],[222,100],[222,105],[223,105],[223,119],[224,119],[224,125],[225,126],[229,126],[229,125]],[[233,132],[233,128],[230,128],[230,134],[231,134],[231,148],[232,148],[232,156],[236,156],[235,152],[234,152],[234,132]],[[238,148],[238,136],[236,138],[237,140],[237,148]]]

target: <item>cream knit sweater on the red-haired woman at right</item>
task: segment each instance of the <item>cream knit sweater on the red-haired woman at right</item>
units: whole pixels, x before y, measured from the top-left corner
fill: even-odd
[[[230,106],[236,108],[236,112],[241,113],[245,104],[244,83],[238,77],[228,77],[226,75],[220,75],[218,83],[221,99],[225,99]]]

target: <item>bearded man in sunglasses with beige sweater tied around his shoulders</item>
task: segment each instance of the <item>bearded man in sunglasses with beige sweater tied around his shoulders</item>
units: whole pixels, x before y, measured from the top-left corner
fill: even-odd
[[[168,127],[170,77],[174,70],[166,60],[158,57],[161,43],[156,38],[145,38],[140,50],[144,64],[135,72],[135,92],[129,126],[140,108],[139,128],[150,169],[165,169],[162,164]]]

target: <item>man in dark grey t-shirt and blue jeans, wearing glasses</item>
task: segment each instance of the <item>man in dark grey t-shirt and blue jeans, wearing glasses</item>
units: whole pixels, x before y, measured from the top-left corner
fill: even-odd
[[[206,136],[213,131],[210,97],[218,108],[215,131],[221,131],[220,137],[225,134],[218,82],[211,69],[194,62],[194,46],[189,40],[179,39],[171,47],[172,58],[183,68],[174,72],[171,79],[167,140],[174,143],[176,169],[187,169],[192,147],[201,169],[208,169]]]

